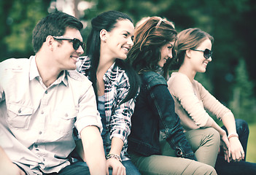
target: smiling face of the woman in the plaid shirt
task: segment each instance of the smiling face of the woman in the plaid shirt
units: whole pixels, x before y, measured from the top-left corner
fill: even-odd
[[[115,28],[106,34],[104,47],[107,47],[110,57],[126,59],[133,46],[133,33],[134,26],[130,20],[117,20]]]

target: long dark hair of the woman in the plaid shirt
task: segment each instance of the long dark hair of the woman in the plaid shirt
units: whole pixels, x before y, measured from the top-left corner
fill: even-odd
[[[118,20],[131,20],[128,15],[123,12],[117,11],[108,11],[103,12],[100,15],[96,16],[91,20],[92,29],[87,39],[87,47],[85,50],[85,55],[88,55],[90,58],[90,81],[93,82],[93,89],[97,96],[97,77],[96,71],[98,69],[98,63],[100,59],[100,48],[101,48],[101,39],[100,39],[100,31],[105,29],[106,31],[112,31],[113,28],[116,27]],[[128,95],[123,99],[122,103],[129,101],[131,98],[136,96],[139,88],[139,77],[136,74],[136,71],[123,60],[116,59],[116,66],[120,66],[121,69],[125,70],[125,73],[128,76],[130,89]]]

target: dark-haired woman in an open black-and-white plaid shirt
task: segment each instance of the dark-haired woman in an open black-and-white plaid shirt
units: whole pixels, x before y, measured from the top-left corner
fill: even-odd
[[[106,166],[112,174],[139,174],[127,154],[139,76],[123,61],[133,46],[134,26],[128,15],[117,11],[103,12],[91,24],[78,70],[93,82],[104,126]]]

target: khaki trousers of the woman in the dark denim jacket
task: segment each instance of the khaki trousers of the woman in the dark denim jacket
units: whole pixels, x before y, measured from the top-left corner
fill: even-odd
[[[220,147],[220,134],[213,128],[198,129],[185,133],[198,161],[186,158],[177,158],[174,149],[168,142],[160,141],[162,155],[144,157],[134,152],[128,152],[132,162],[145,175],[167,174],[217,174],[213,166]],[[201,163],[199,161],[203,161]],[[209,165],[205,164],[208,163]]]

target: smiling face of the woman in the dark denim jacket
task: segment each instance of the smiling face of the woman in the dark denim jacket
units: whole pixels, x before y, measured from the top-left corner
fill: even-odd
[[[158,61],[158,66],[163,67],[169,58],[172,58],[172,49],[174,47],[174,42],[168,42],[160,47],[161,59]]]

